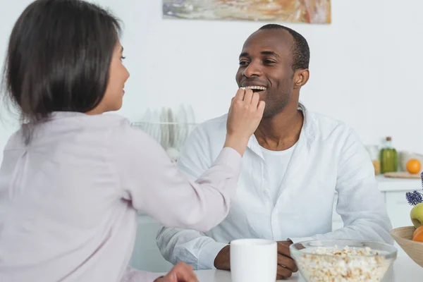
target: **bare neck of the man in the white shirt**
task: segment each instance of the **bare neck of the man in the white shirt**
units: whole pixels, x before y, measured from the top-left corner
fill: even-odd
[[[263,118],[255,132],[259,145],[271,151],[289,149],[300,138],[304,116],[298,103],[289,103],[271,118]]]

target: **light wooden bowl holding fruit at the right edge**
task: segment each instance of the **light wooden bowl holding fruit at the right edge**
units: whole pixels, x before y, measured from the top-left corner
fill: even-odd
[[[412,260],[423,267],[423,243],[411,240],[415,229],[414,226],[395,228],[391,230],[391,236]]]

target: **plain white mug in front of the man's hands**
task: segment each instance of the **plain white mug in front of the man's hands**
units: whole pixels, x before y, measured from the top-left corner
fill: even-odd
[[[264,239],[240,239],[231,242],[232,282],[275,282],[278,245]]]

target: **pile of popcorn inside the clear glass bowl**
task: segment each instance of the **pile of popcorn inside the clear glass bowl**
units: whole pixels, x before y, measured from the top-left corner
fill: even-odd
[[[324,256],[323,256],[324,255]],[[369,247],[317,247],[298,260],[302,274],[311,282],[377,282],[381,281],[389,263],[381,252]]]

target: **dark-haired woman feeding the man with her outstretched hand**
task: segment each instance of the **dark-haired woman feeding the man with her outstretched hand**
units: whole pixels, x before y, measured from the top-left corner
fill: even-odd
[[[137,210],[166,226],[206,231],[226,216],[264,103],[238,90],[215,165],[190,182],[121,108],[129,77],[118,20],[79,0],[37,0],[13,27],[8,97],[23,125],[0,168],[1,281],[196,281],[127,269]],[[155,280],[157,279],[157,280]]]

